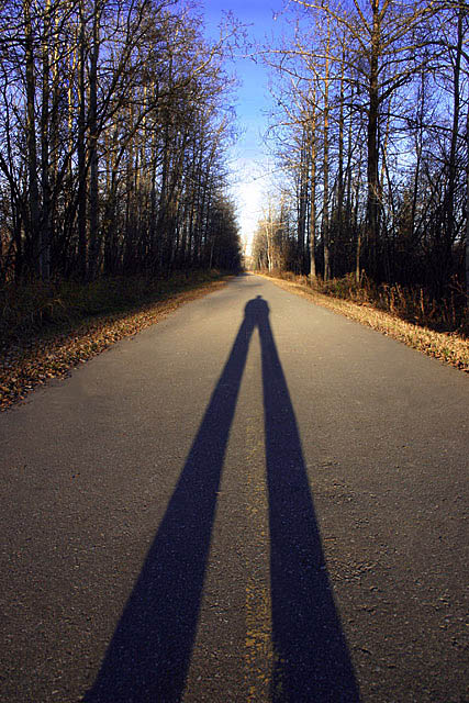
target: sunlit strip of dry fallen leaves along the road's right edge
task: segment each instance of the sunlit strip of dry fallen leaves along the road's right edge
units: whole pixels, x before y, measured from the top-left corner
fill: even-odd
[[[305,282],[304,278],[291,280],[293,277],[290,277],[290,280],[284,280],[277,276],[267,276],[266,274],[263,276],[272,280],[280,288],[308,298],[323,308],[338,312],[428,356],[450,364],[461,371],[469,372],[469,341],[461,334],[435,332],[428,327],[401,320],[390,312],[378,310],[368,302],[358,303],[320,293]]]

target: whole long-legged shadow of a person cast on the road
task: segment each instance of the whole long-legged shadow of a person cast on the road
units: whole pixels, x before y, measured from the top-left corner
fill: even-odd
[[[270,521],[272,701],[358,701],[334,605],[286,379],[259,295],[245,308],[178,484],[87,703],[181,700],[230,427],[259,330]]]

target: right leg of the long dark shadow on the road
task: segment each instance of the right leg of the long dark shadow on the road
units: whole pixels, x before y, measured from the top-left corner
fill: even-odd
[[[275,656],[271,699],[359,701],[268,306],[260,300],[248,306],[256,315],[263,359]]]

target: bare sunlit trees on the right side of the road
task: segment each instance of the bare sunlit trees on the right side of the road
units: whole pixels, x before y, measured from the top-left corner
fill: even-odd
[[[464,295],[467,3],[295,2],[291,36],[265,54],[286,178],[259,222],[255,265]]]

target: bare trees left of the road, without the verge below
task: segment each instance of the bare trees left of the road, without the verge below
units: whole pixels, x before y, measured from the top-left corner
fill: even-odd
[[[177,0],[1,3],[0,284],[239,265],[223,41]]]

